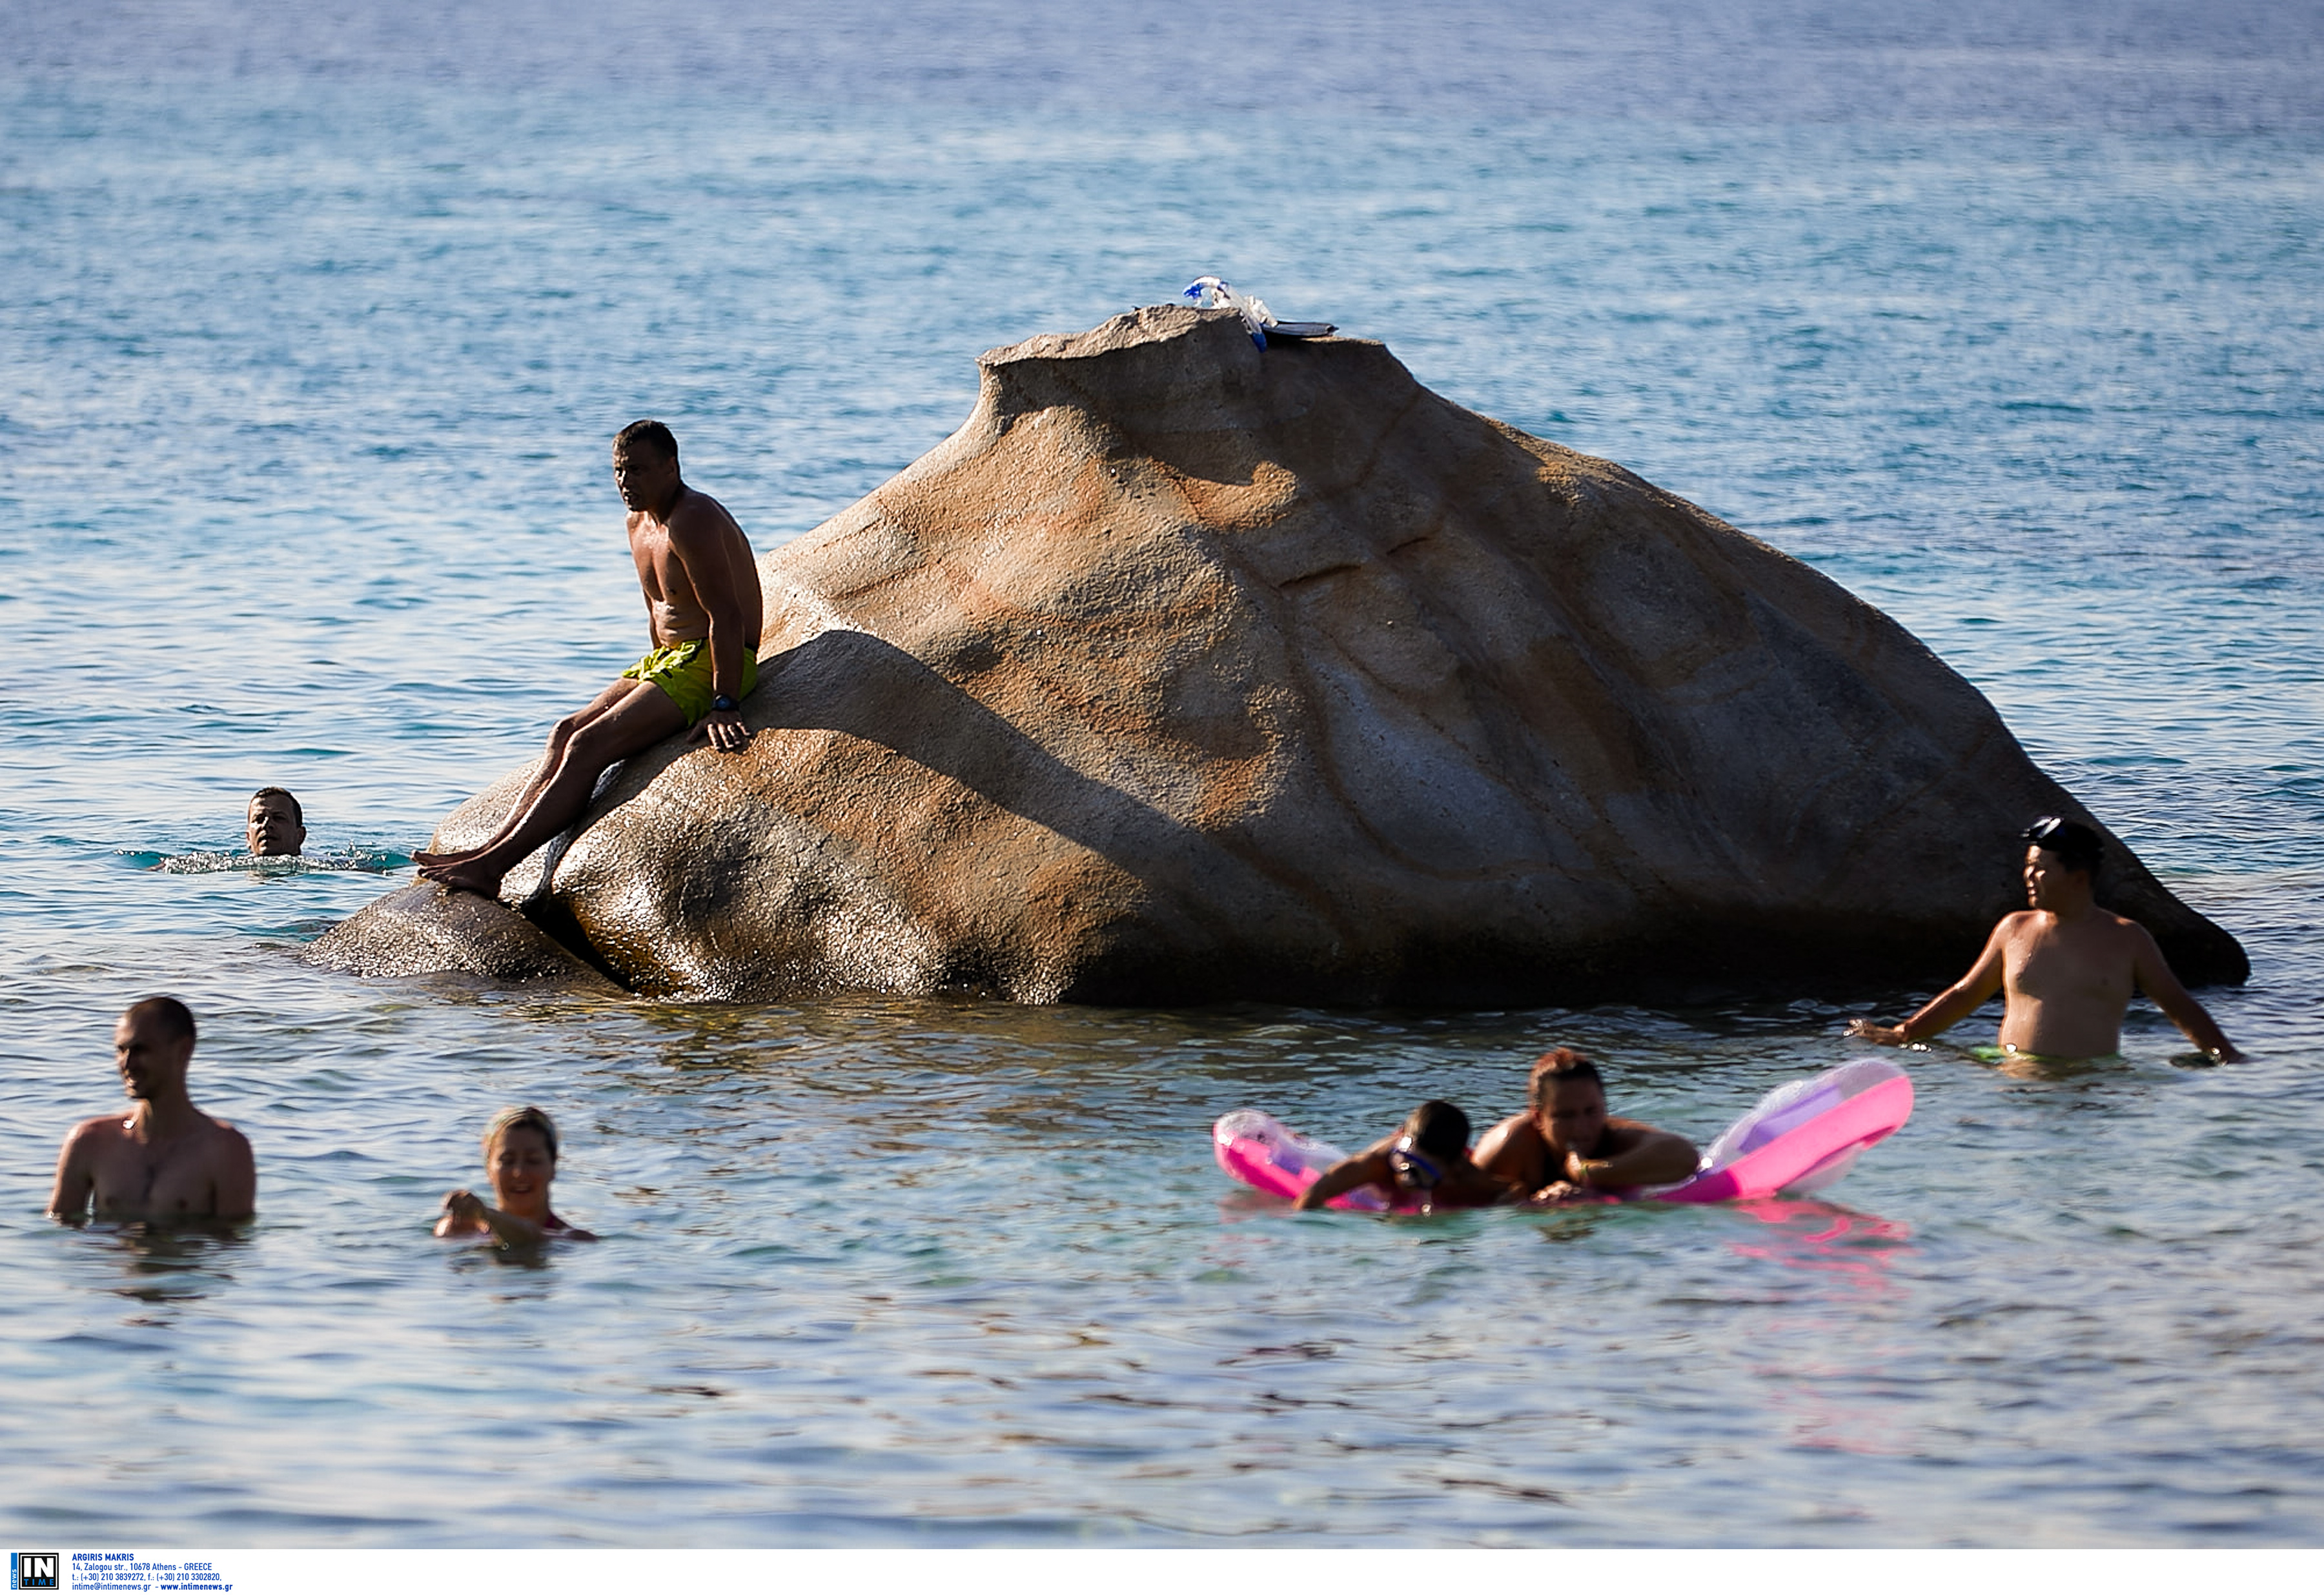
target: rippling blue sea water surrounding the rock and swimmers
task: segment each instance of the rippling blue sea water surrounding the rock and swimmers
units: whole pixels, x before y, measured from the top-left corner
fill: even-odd
[[[2324,1537],[2324,7],[7,21],[9,1532]],[[769,548],[951,432],[978,351],[1199,272],[1903,620],[2243,938],[2205,1001],[2252,1061],[2175,1066],[2140,1005],[2119,1061],[1915,1054],[1913,1124],[1827,1200],[1292,1219],[1222,1184],[1213,1117],[1506,1112],[1573,1042],[1708,1140],[1845,1015],[295,964],[637,655],[614,427],[669,418]],[[198,868],[270,782],[353,868]],[[242,1235],[40,1217],[156,989],[258,1147]],[[602,1244],[425,1237],[511,1100]]]

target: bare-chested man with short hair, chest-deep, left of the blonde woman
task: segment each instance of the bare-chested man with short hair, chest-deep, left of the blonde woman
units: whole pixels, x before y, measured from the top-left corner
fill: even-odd
[[[186,1096],[193,1015],[174,996],[132,1003],[114,1026],[114,1063],[137,1112],[88,1119],[56,1159],[49,1217],[246,1219],[258,1207],[251,1142]]]

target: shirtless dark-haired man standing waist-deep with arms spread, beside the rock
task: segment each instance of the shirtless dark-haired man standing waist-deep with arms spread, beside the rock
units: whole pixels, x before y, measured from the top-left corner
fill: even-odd
[[[2171,973],[2154,938],[2099,908],[2099,833],[2078,820],[2036,820],[2024,840],[2031,908],[2003,917],[1975,966],[1917,1015],[1903,1024],[1855,1019],[1848,1033],[1906,1047],[1966,1019],[2001,991],[2003,1052],[2103,1059],[2122,1049],[2122,1015],[2138,989],[2212,1059],[2240,1061],[2236,1045]]]

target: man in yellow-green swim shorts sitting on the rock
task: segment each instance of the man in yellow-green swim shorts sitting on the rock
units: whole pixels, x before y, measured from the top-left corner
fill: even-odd
[[[414,854],[425,880],[497,896],[502,875],[581,817],[609,766],[686,727],[718,752],[751,743],[739,703],[758,683],[765,622],[751,541],[718,499],[679,478],[679,443],[658,420],[632,420],[614,439],[614,485],[630,508],[653,650],[558,720],[541,768],[490,840]]]

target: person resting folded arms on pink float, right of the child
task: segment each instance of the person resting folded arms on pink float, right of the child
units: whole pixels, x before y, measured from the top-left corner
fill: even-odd
[[[1638,1119],[1608,1119],[1597,1063],[1571,1047],[1534,1061],[1525,1100],[1525,1112],[1501,1119],[1476,1142],[1476,1165],[1536,1203],[1678,1184],[1701,1163],[1685,1135]]]

